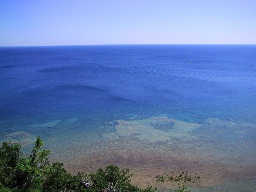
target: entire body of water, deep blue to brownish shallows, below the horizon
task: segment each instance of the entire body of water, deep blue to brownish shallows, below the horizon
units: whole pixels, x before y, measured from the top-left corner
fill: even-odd
[[[194,165],[252,191],[255,63],[253,45],[2,47],[0,140],[41,136],[74,172]]]

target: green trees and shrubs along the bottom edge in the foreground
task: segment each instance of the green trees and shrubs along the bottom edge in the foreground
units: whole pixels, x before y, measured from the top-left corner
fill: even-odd
[[[3,142],[0,148],[0,192],[157,192],[153,186],[141,189],[130,184],[129,169],[108,165],[94,174],[78,172],[72,175],[61,162],[49,162],[51,151],[41,149],[44,141],[39,136],[31,154],[25,156],[19,143]],[[172,192],[190,192],[185,186],[201,176],[188,172],[158,175],[152,180],[176,182]]]

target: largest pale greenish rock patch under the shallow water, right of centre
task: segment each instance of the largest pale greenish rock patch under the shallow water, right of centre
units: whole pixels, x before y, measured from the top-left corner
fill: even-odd
[[[164,142],[173,137],[185,137],[189,135],[189,131],[201,127],[200,124],[170,119],[165,115],[142,120],[118,120],[116,122],[118,123],[115,126],[116,133],[120,137],[135,137],[148,142]],[[162,130],[162,127],[165,127],[165,130]]]

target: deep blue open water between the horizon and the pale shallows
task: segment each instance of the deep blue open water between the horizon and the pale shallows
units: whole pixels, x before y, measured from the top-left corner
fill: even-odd
[[[256,122],[253,45],[2,47],[0,66],[2,120],[166,113]]]

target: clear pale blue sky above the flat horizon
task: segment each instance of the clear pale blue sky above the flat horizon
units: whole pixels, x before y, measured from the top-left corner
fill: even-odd
[[[0,46],[256,44],[256,0],[0,0]]]

